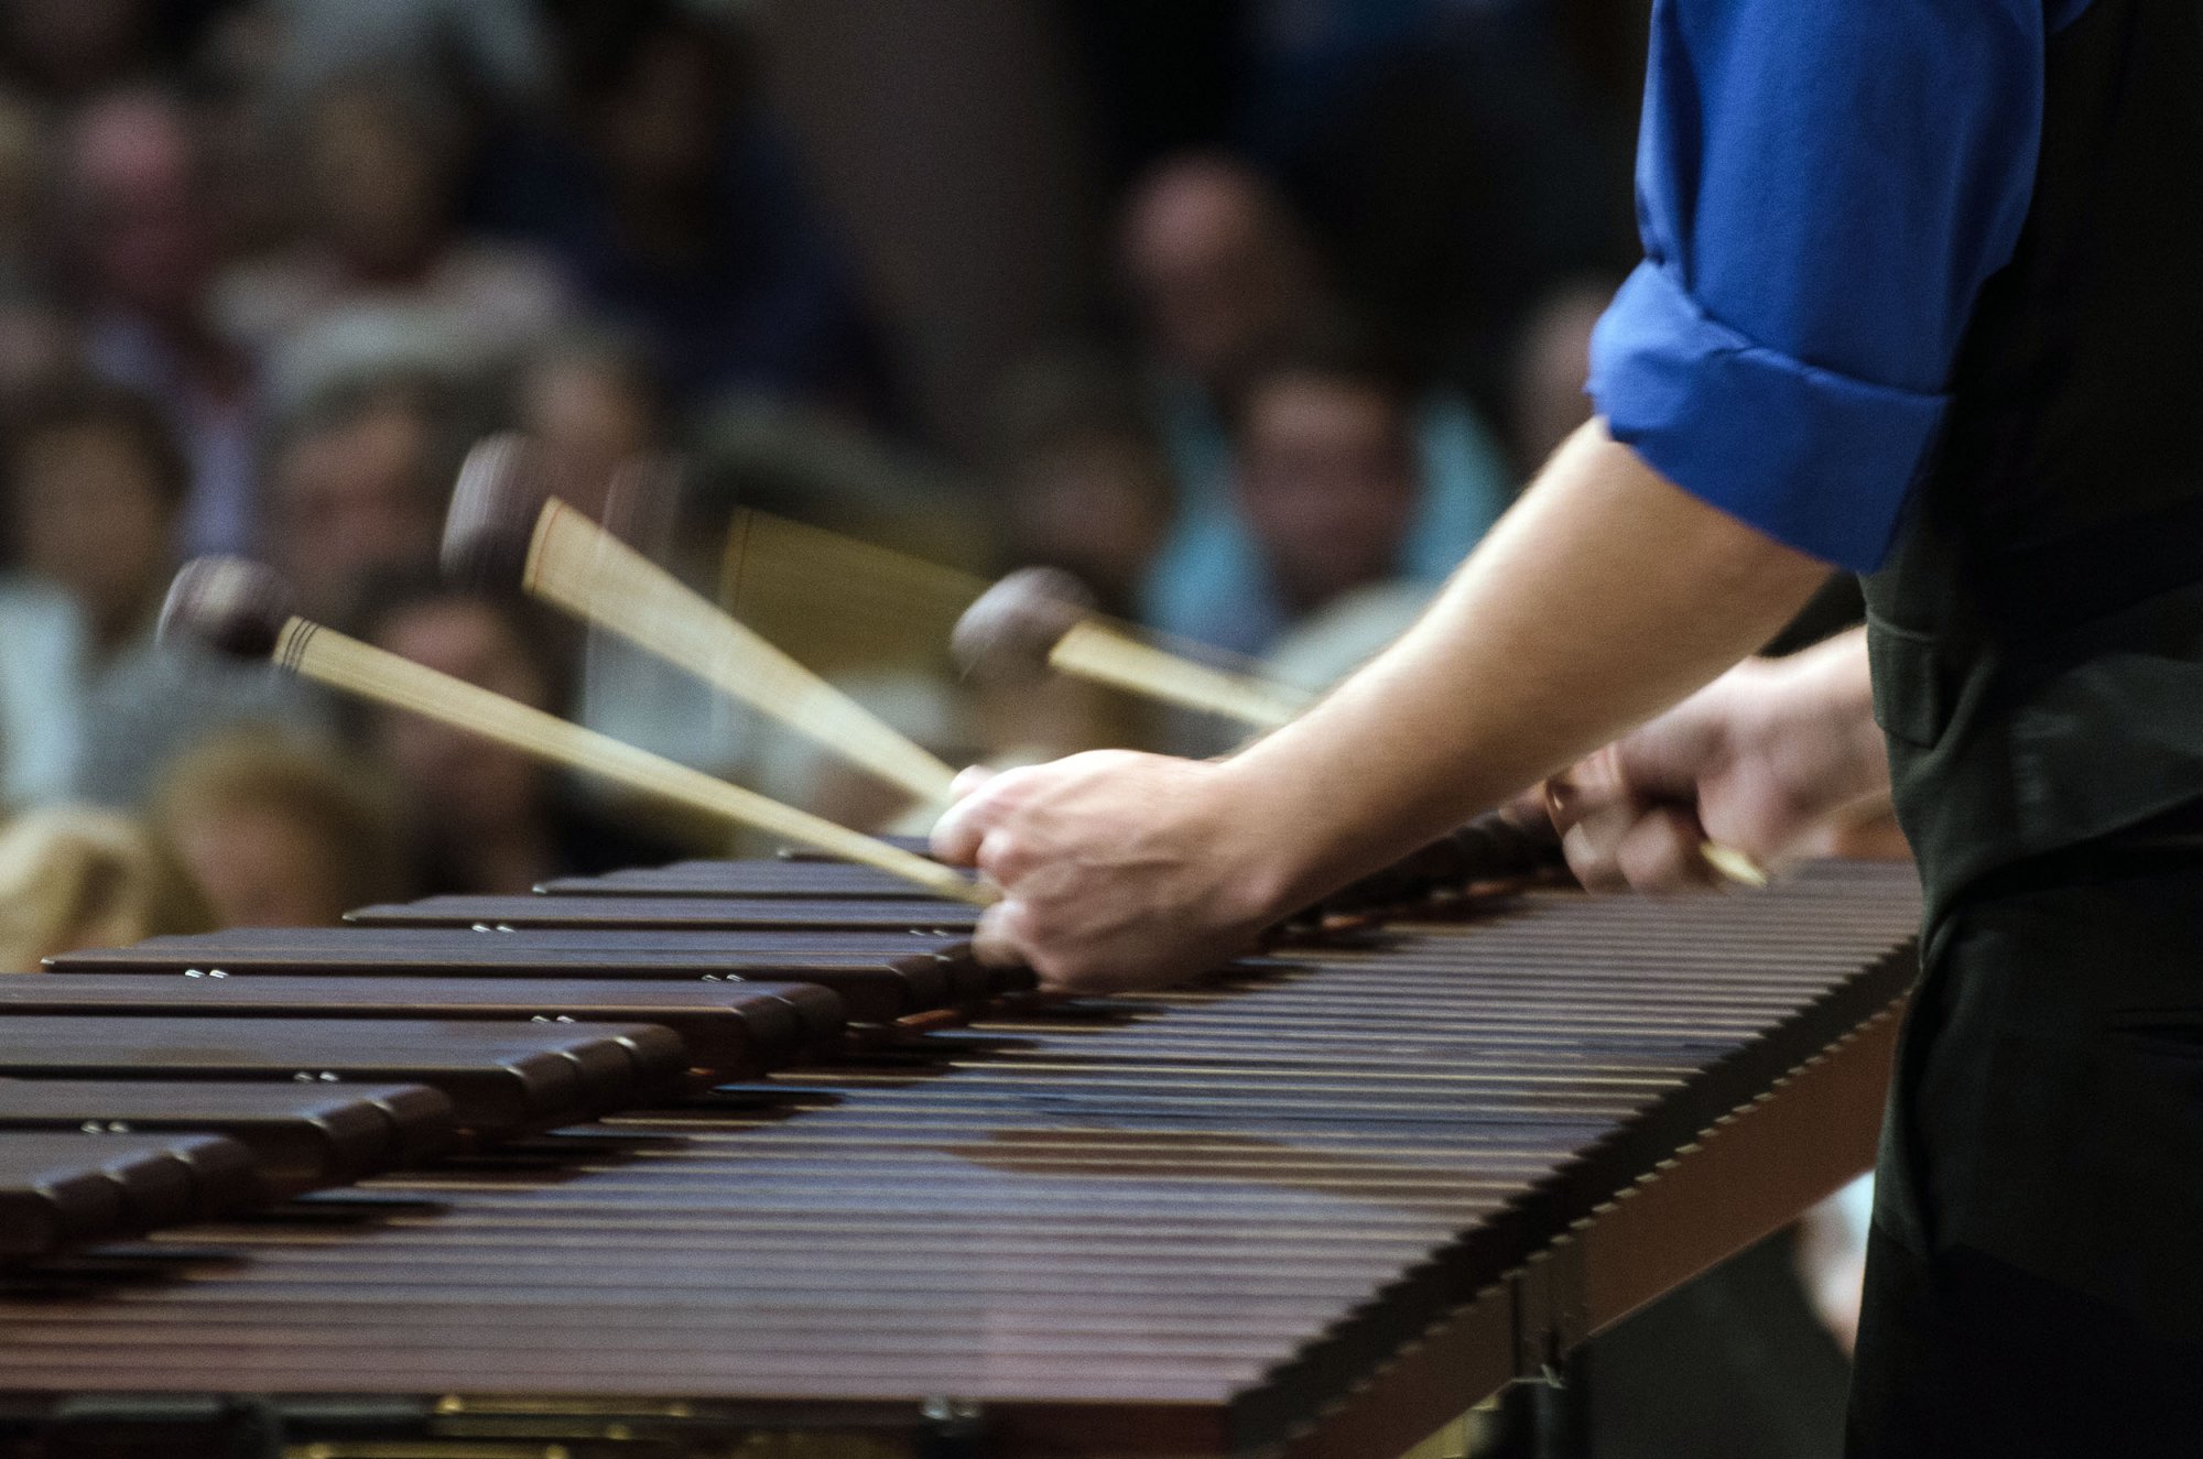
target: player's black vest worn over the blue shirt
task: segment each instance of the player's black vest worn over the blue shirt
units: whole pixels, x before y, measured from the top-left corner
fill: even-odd
[[[1875,714],[1934,919],[1976,877],[2203,800],[2203,7],[2049,44],[2014,260],[1866,582]]]

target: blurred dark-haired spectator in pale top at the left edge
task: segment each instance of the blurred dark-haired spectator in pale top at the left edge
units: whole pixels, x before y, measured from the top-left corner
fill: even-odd
[[[42,390],[9,425],[0,478],[20,569],[0,580],[0,800],[130,804],[211,727],[306,714],[269,670],[154,646],[187,467],[150,401]]]

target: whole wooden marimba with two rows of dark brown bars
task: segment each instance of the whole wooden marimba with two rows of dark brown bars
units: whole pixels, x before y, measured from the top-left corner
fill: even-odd
[[[720,862],[73,954],[0,981],[0,1455],[1401,1452],[1866,1166],[1917,912],[1531,888],[1042,1003]]]

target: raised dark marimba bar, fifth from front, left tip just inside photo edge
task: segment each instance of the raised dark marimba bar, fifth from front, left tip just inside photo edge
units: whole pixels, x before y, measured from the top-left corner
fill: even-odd
[[[639,948],[645,939],[650,945]],[[590,979],[619,983],[705,983],[727,992],[758,985],[822,987],[839,1001],[775,987],[809,1029],[831,1038],[839,1018],[892,1023],[910,1014],[987,996],[996,979],[947,939],[848,934],[866,945],[820,950],[815,934],[762,934],[793,950],[729,952],[712,932],[471,932],[452,928],[238,928],[205,937],[156,937],[134,948],[99,948],[48,959],[55,972],[377,979]],[[919,948],[912,950],[912,941]],[[934,952],[930,948],[947,948]],[[1029,983],[1027,983],[1029,985]]]

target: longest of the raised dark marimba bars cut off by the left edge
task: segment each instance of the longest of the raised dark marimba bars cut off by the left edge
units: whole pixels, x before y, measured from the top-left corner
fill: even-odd
[[[240,979],[220,970],[9,979],[0,981],[0,1014],[654,1023],[681,1036],[690,1067],[720,1076],[786,1064],[842,1029],[842,1001],[804,983]]]

